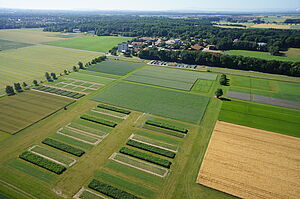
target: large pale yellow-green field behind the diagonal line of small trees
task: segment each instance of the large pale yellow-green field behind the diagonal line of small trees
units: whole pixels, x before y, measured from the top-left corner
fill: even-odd
[[[52,46],[29,46],[0,52],[0,88],[14,82],[45,79],[45,72],[62,73],[71,69],[78,61],[86,62],[99,56],[97,53],[82,52]]]

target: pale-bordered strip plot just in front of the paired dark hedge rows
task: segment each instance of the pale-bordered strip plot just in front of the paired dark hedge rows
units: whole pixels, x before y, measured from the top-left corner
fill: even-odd
[[[109,159],[159,177],[165,177],[168,174],[168,169],[166,168],[159,167],[154,164],[150,164],[124,154],[114,153]]]

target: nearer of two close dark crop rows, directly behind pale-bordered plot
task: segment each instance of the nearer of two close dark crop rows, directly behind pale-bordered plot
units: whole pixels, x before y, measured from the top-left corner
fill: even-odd
[[[156,157],[127,147],[122,147],[119,152],[166,168],[170,168],[172,164],[172,162],[170,162],[169,160],[162,159],[160,157]]]

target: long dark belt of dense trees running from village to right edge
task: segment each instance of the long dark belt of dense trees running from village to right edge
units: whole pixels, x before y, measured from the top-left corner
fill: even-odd
[[[139,53],[141,59],[154,59],[185,64],[217,66],[239,70],[300,77],[300,62],[264,60],[253,57],[207,53],[202,51],[166,51],[149,48]]]

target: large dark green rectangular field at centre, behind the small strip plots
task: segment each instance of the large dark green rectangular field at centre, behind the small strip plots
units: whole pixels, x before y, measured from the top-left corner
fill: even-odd
[[[93,100],[181,121],[199,123],[208,97],[167,89],[120,82]]]

